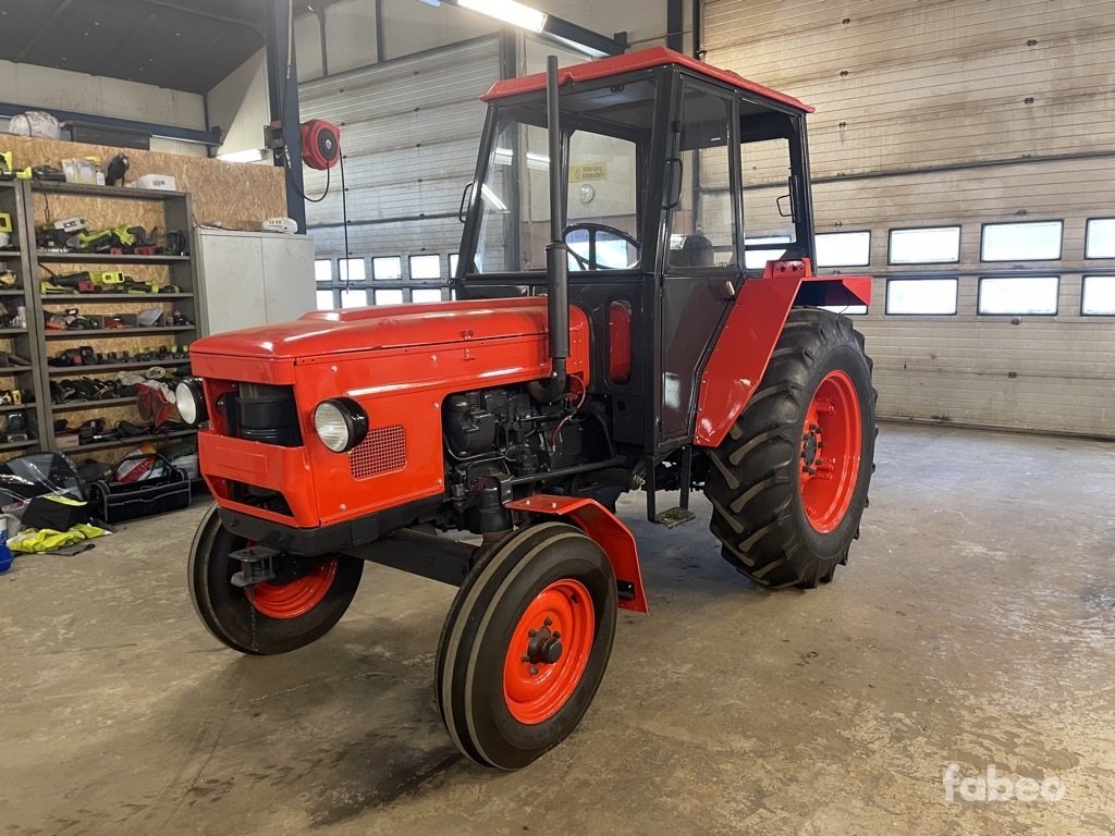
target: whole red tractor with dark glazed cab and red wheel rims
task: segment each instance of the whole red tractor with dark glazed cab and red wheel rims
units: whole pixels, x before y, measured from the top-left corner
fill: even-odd
[[[581,720],[617,607],[647,612],[620,494],[672,528],[704,489],[760,584],[847,561],[874,391],[826,309],[870,280],[813,273],[797,99],[661,48],[551,58],[485,99],[455,301],[209,337],[177,402],[207,425],[190,583],[213,635],[309,644],[366,561],[458,586],[437,704],[462,752],[516,769]]]

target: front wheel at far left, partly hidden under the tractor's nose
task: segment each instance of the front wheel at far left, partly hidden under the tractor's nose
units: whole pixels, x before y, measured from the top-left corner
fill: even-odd
[[[212,506],[190,553],[190,595],[209,631],[241,653],[285,653],[317,641],[348,610],[363,561],[348,555],[277,558],[273,583],[232,584],[242,568],[232,552],[250,543],[234,536]]]

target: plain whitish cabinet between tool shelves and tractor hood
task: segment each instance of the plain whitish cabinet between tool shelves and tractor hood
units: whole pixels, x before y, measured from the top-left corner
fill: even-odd
[[[289,322],[317,308],[308,235],[200,229],[195,240],[202,334]]]

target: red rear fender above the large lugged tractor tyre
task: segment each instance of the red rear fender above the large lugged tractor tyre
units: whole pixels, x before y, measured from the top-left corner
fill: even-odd
[[[768,261],[747,279],[701,375],[694,444],[718,447],[758,389],[794,305],[870,304],[869,276],[818,276],[808,259]]]

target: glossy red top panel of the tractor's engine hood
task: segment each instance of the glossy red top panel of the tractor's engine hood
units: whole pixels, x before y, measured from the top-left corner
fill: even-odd
[[[573,318],[574,329],[584,324],[583,315]],[[430,302],[312,311],[293,322],[206,337],[194,342],[190,353],[198,357],[299,360],[371,349],[545,333],[545,298]]]

